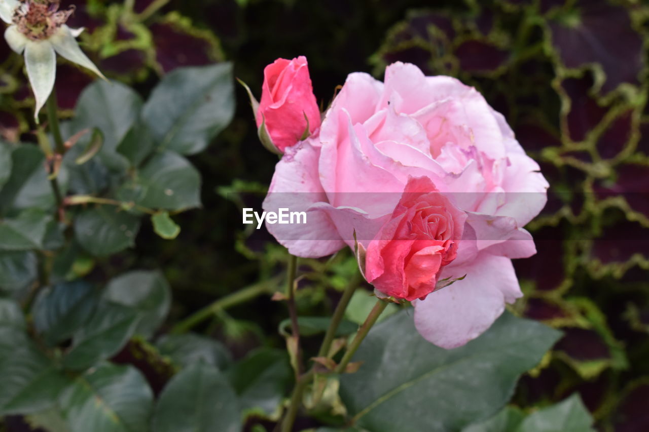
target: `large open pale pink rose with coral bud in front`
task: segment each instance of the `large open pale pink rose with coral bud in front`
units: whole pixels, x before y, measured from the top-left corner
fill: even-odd
[[[352,73],[319,130],[284,151],[264,210],[308,223],[271,234],[302,257],[363,250],[365,278],[412,301],[428,341],[465,344],[522,296],[511,259],[536,252],[523,227],[548,183],[474,88],[403,63],[384,82]]]

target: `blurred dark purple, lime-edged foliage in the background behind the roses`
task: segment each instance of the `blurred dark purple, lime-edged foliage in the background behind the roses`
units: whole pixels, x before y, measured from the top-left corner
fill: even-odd
[[[298,55],[309,60],[323,106],[348,73],[382,78],[395,61],[476,86],[551,185],[548,205],[528,227],[539,253],[515,262],[526,295],[512,309],[564,336],[519,381],[512,403],[543,407],[578,392],[598,429],[649,430],[649,6],[640,0],[62,3],[77,6],[70,24],[86,27],[80,37],[86,53],[145,98],[178,67],[224,60],[259,95],[263,67]],[[93,78],[60,62],[58,102],[70,116]],[[34,141],[31,92],[19,56],[5,43],[0,64],[0,134]],[[247,302],[215,309],[195,329],[239,359],[261,346],[283,347],[275,330],[285,307],[258,294],[281,290],[286,254],[264,230],[240,224],[241,203],[258,206],[251,192],[263,193],[276,157],[258,143],[244,91],[236,95],[230,126],[190,157],[202,174],[203,208],[175,216],[182,226],[177,239],[161,239],[145,222],[134,248],[104,259],[86,254],[74,269],[97,283],[130,269],[162,269],[173,304],[160,333],[248,287]],[[347,252],[303,260],[300,273],[304,316],[327,315],[347,284],[361,283]],[[359,296],[347,318],[362,321],[366,310]],[[172,342],[165,354],[178,348]],[[315,342],[310,346],[307,337],[307,350]],[[158,346],[164,352],[164,341]],[[149,348],[133,339],[113,361],[136,365],[157,392],[173,370],[158,364],[160,353],[146,354]],[[30,430],[20,418],[8,418],[5,427]]]

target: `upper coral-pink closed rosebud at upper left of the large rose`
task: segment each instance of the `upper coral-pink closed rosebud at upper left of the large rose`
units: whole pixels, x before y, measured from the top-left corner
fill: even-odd
[[[258,127],[264,123],[273,145],[282,153],[300,141],[305,132],[308,136],[319,128],[320,110],[306,57],[278,58],[263,69],[262,100],[256,121]]]

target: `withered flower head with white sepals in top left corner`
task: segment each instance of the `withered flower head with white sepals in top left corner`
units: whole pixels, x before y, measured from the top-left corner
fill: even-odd
[[[36,99],[36,121],[54,88],[56,53],[104,78],[75,39],[83,29],[66,25],[73,12],[73,7],[60,10],[60,0],[0,0],[0,18],[9,24],[5,40],[16,53],[25,53],[27,76]]]

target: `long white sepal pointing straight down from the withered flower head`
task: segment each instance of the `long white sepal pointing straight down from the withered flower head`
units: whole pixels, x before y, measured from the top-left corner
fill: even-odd
[[[56,77],[56,53],[52,45],[44,40],[40,42],[29,41],[25,46],[25,65],[29,83],[36,97],[36,112],[34,117],[38,120],[38,112],[47,101]]]

